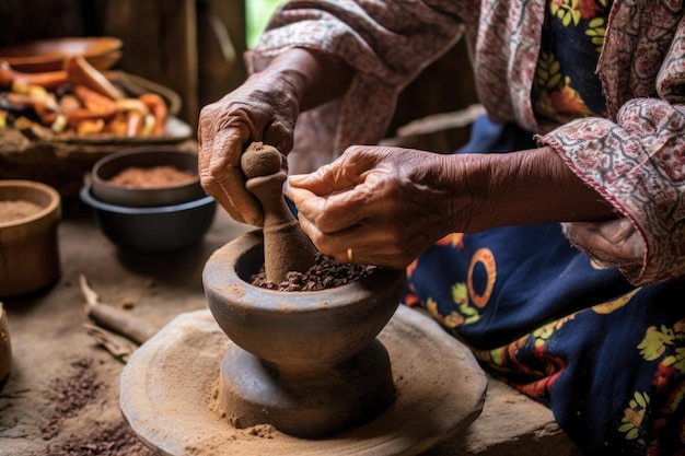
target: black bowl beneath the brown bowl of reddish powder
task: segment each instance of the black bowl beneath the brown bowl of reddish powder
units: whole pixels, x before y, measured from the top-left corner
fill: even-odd
[[[93,208],[101,231],[113,244],[138,254],[163,254],[200,244],[217,209],[210,196],[151,208],[111,204],[95,198],[89,184],[81,188],[80,197]]]

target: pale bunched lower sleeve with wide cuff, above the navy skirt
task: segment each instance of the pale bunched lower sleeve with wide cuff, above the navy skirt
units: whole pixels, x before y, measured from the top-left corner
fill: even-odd
[[[685,274],[683,119],[682,104],[634,98],[614,119],[578,119],[538,139],[629,222],[565,229],[573,245],[634,284]]]

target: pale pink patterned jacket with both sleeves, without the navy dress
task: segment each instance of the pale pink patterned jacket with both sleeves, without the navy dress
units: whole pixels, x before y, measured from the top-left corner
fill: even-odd
[[[588,4],[590,11],[596,8],[588,0],[559,2],[562,23],[582,21]],[[604,27],[588,21],[591,34],[605,35],[597,63],[605,115],[589,105],[590,116],[562,125],[536,115],[542,91],[536,106],[531,96],[546,7],[545,0],[293,0],[246,60],[257,71],[299,46],[338,55],[357,69],[342,100],[299,119],[295,151],[315,149],[325,161],[321,157],[333,159],[352,143],[378,142],[402,87],[465,37],[478,98],[490,118],[538,133],[541,144],[553,147],[622,215],[564,224],[570,242],[596,265],[620,268],[636,285],[680,278],[685,274],[683,3],[615,0],[606,5]],[[577,82],[567,87],[577,90]],[[309,135],[300,135],[304,131]],[[302,143],[307,136],[313,145]]]

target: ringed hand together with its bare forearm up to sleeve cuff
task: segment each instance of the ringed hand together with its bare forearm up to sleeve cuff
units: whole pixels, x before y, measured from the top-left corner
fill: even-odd
[[[452,232],[616,218],[552,148],[442,155],[357,145],[291,176],[287,195],[322,253],[396,269]]]

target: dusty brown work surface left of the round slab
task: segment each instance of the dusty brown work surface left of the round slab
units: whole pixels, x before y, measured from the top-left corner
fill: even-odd
[[[142,444],[117,446],[124,432],[118,401],[124,363],[84,327],[92,321],[79,277],[88,279],[104,303],[120,308],[126,302],[132,306],[128,311],[132,317],[162,328],[179,313],[206,308],[205,262],[246,230],[218,212],[197,248],[171,256],[136,256],[113,246],[88,208],[65,207],[58,230],[60,279],[44,293],[4,302],[13,365],[0,390],[0,456],[147,455]],[[111,336],[124,349],[136,347]],[[67,393],[63,387],[69,385],[73,390]],[[83,388],[89,393],[80,407],[67,407],[68,396],[82,395]],[[67,453],[67,447],[76,449]],[[89,447],[111,449],[90,452]]]

